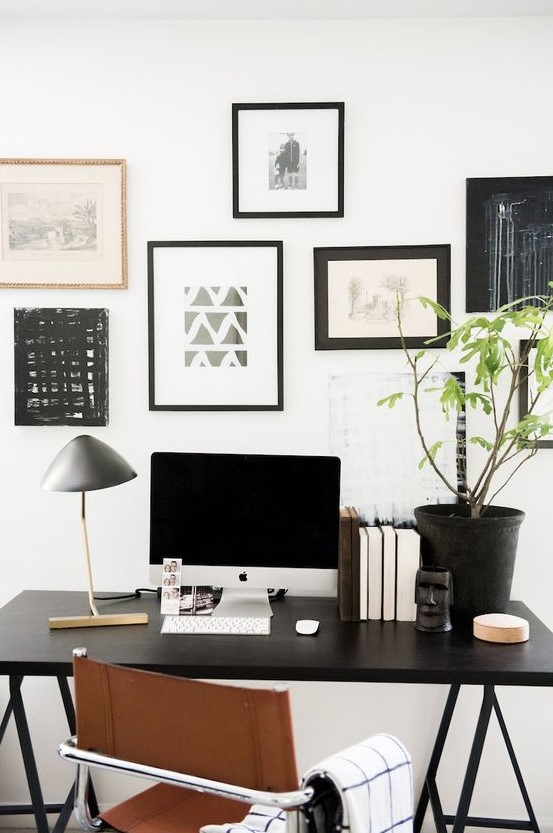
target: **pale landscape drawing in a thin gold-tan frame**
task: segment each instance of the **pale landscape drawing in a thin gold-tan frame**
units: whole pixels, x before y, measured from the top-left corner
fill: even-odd
[[[124,159],[0,159],[0,288],[125,289]]]

